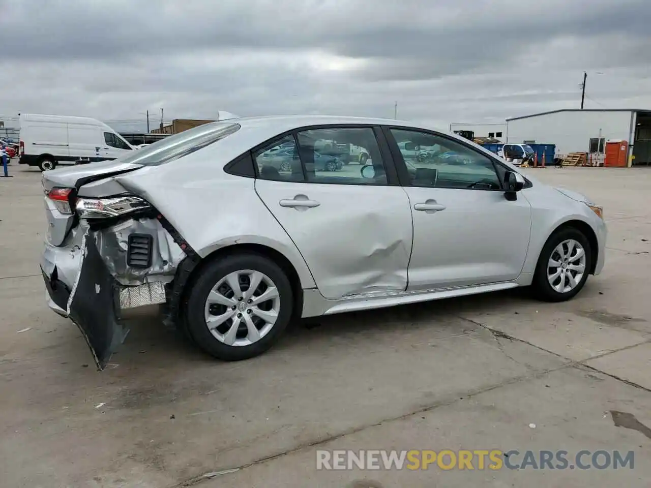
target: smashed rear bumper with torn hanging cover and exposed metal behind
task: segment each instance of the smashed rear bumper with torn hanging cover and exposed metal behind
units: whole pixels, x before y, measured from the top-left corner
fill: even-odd
[[[151,266],[132,269],[127,264],[126,242],[130,234],[146,231],[152,235]],[[46,301],[79,327],[102,370],[128,334],[120,322],[121,310],[165,303],[165,284],[173,280],[184,256],[154,219],[127,221],[102,230],[80,224],[64,245],[46,242],[40,263]]]

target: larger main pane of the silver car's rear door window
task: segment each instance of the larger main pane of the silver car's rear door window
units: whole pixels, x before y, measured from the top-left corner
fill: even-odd
[[[387,173],[372,128],[324,128],[297,134],[308,182],[386,185]]]

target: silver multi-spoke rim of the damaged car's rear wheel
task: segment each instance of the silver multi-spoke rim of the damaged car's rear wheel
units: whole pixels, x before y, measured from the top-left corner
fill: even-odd
[[[249,346],[266,336],[280,311],[278,290],[260,271],[242,269],[221,278],[208,293],[204,318],[210,333],[227,346]]]

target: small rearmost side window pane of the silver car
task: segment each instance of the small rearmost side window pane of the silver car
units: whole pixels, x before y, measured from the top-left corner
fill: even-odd
[[[254,155],[258,176],[262,180],[304,182],[305,175],[293,135],[271,142]]]

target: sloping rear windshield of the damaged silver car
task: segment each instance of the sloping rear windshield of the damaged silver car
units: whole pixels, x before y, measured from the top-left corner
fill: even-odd
[[[142,149],[133,150],[129,156],[120,158],[120,161],[145,166],[162,165],[198,151],[219,139],[224,139],[238,129],[240,124],[233,122],[212,122],[165,137]]]

